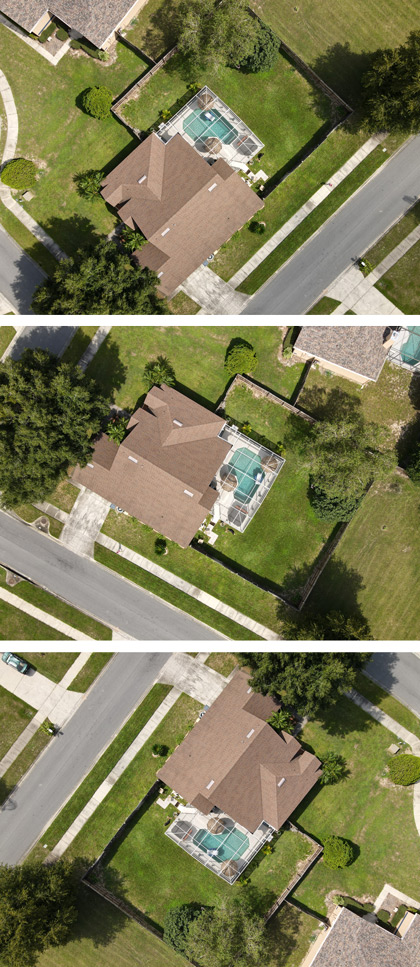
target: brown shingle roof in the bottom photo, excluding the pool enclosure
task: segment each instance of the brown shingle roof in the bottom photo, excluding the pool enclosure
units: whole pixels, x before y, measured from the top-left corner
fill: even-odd
[[[277,707],[237,672],[159,778],[205,815],[218,807],[249,832],[263,821],[280,829],[321,771],[297,739],[267,725]]]

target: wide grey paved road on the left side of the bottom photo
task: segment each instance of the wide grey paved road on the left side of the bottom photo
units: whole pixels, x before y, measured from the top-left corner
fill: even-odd
[[[159,652],[115,655],[64,725],[62,735],[51,740],[2,806],[0,863],[19,863],[26,856],[167,660],[168,655]]]

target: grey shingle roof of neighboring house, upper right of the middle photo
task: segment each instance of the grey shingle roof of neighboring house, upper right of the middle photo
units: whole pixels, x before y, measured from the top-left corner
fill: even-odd
[[[294,348],[376,380],[386,359],[385,326],[302,326]]]

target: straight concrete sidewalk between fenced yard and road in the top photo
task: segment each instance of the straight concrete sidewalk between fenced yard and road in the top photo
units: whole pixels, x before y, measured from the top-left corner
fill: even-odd
[[[240,285],[240,283],[243,282],[244,279],[246,279],[247,276],[250,275],[250,273],[253,272],[254,269],[256,269],[257,266],[264,261],[264,259],[267,258],[267,255],[270,255],[270,252],[273,252],[274,249],[277,248],[277,246],[280,245],[280,243],[283,242],[284,239],[287,238],[287,236],[290,235],[295,228],[297,228],[298,225],[300,225],[301,222],[303,222],[305,218],[307,218],[307,216],[314,211],[315,208],[318,208],[318,205],[320,205],[321,202],[323,202],[325,198],[328,198],[328,195],[334,191],[334,188],[337,188],[337,185],[341,184],[341,182],[347,178],[347,175],[354,171],[361,161],[364,161],[364,159],[367,158],[368,155],[371,154],[371,152],[374,151],[378,144],[381,144],[385,138],[386,134],[375,134],[373,137],[369,138],[368,141],[366,141],[365,144],[363,144],[361,148],[359,148],[358,151],[356,151],[355,154],[349,158],[348,161],[346,161],[345,164],[338,169],[338,171],[335,172],[335,174],[331,175],[329,182],[322,185],[321,188],[318,188],[318,191],[316,191],[315,194],[312,195],[311,198],[309,198],[309,200],[305,202],[305,204],[302,205],[302,207],[299,208],[299,210],[295,212],[295,214],[292,215],[292,217],[289,218],[289,220],[285,222],[277,232],[274,233],[274,235],[271,236],[271,238],[268,239],[268,242],[262,245],[261,248],[258,249],[258,252],[255,252],[255,255],[253,255],[248,262],[245,262],[245,265],[243,265],[242,268],[240,268],[239,271],[236,272],[235,275],[233,275],[229,280],[229,285],[233,286],[233,288],[236,288],[238,285]]]

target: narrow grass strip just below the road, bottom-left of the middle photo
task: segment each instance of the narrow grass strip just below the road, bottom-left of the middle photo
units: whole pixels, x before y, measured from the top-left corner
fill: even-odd
[[[90,618],[89,615],[83,614],[77,608],[73,608],[71,604],[61,601],[54,594],[44,591],[43,588],[39,588],[29,581],[20,581],[15,587],[9,587],[6,584],[6,572],[2,567],[0,567],[0,587],[6,588],[12,594],[16,594],[18,598],[21,598],[23,601],[28,601],[36,608],[40,608],[41,611],[46,611],[47,614],[53,615],[54,618],[59,618],[60,621],[64,621],[77,631],[84,632],[89,635],[89,638],[95,638],[99,641],[110,641],[112,638],[110,628],[106,628],[105,625],[96,621],[95,618]],[[22,617],[25,616],[22,614]],[[50,629],[50,631],[52,632],[53,629]],[[58,632],[57,636],[61,640],[62,636]],[[59,681],[59,679],[57,680]]]

